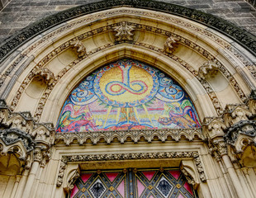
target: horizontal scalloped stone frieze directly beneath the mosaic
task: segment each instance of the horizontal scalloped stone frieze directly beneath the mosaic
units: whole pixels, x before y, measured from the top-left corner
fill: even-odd
[[[140,138],[144,138],[147,142],[151,143],[154,137],[159,141],[165,142],[168,138],[174,141],[179,141],[184,136],[189,141],[194,139],[204,140],[201,134],[201,129],[180,129],[180,130],[128,130],[128,131],[94,131],[94,132],[80,132],[80,133],[59,133],[56,134],[56,144],[61,141],[69,145],[73,140],[77,140],[78,144],[86,144],[90,139],[92,144],[97,144],[100,139],[104,139],[107,144],[117,139],[121,144],[125,143],[126,139],[130,137],[134,143],[138,143]]]

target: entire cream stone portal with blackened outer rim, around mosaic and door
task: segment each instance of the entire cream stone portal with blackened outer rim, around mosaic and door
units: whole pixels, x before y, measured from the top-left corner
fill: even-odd
[[[180,169],[199,197],[254,197],[254,186],[247,185],[249,178],[235,161],[239,156],[230,152],[254,127],[254,42],[216,17],[164,2],[128,0],[73,8],[19,32],[0,51],[5,100],[0,130],[2,135],[17,128],[18,138],[26,134],[34,144],[23,149],[26,170],[8,181],[12,196],[64,197],[76,170],[93,169],[87,164],[168,159],[168,167],[183,161]],[[175,79],[196,106],[202,129],[56,134],[50,123],[57,122],[69,92],[118,59],[137,59]],[[236,133],[241,126],[246,127]],[[16,135],[13,142],[25,148]],[[7,150],[7,142],[2,145]]]

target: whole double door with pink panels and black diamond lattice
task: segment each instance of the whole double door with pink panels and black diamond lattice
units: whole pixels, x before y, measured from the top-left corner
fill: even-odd
[[[197,191],[178,169],[82,172],[68,198],[194,198]]]

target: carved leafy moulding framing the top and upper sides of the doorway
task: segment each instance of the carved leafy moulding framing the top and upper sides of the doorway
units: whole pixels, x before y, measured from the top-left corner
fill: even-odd
[[[60,160],[59,174],[56,185],[61,186],[64,179],[65,170],[68,163],[86,163],[100,161],[121,161],[138,159],[163,159],[163,158],[192,158],[197,167],[201,182],[206,181],[206,175],[198,152],[160,152],[160,153],[106,153],[106,154],[83,154],[83,155],[63,155]]]

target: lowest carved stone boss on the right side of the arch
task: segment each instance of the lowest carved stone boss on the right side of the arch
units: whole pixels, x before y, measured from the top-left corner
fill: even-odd
[[[213,61],[208,60],[206,63],[202,64],[198,70],[198,75],[205,79],[207,76],[214,78],[219,71],[220,63],[216,59]]]

